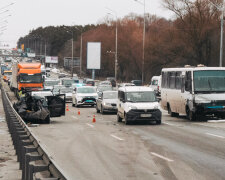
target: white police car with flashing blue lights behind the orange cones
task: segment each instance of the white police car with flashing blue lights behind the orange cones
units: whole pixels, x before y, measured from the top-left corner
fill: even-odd
[[[96,92],[96,87],[93,86],[77,87],[73,92],[72,105],[76,107],[81,105],[94,106],[96,104],[97,98],[98,94]]]

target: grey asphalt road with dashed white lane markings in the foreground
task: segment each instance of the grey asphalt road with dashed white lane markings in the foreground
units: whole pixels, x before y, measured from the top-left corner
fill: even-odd
[[[69,105],[32,131],[71,179],[225,179],[225,122],[117,123],[115,114]],[[92,122],[96,114],[96,123]]]

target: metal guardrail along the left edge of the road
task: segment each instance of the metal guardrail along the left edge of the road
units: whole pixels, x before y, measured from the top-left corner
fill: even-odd
[[[1,92],[6,122],[22,170],[22,180],[67,180],[65,173],[15,111],[3,88]]]

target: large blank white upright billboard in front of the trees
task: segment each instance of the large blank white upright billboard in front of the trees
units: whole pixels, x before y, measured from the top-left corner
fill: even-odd
[[[87,43],[87,69],[101,68],[101,43]]]

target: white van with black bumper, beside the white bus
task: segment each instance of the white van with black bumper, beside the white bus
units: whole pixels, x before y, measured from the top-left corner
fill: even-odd
[[[154,90],[144,86],[121,87],[118,90],[117,121],[146,120],[161,124],[162,112]]]

